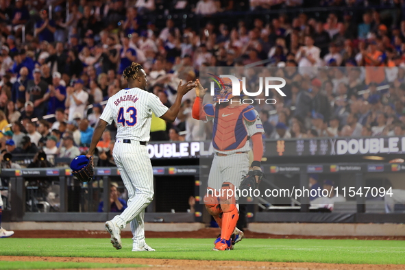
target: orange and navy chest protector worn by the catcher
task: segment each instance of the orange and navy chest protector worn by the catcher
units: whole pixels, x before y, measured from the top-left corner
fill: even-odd
[[[245,146],[247,130],[244,114],[253,106],[241,105],[234,108],[215,108],[212,145],[220,151],[239,149]]]

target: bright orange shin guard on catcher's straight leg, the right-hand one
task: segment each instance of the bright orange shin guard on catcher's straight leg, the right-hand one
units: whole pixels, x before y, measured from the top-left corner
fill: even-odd
[[[229,190],[232,190],[232,192]],[[229,182],[224,182],[222,184],[219,204],[221,204],[221,210],[223,212],[221,239],[225,240],[229,240],[231,238],[239,218],[234,191],[234,184]]]

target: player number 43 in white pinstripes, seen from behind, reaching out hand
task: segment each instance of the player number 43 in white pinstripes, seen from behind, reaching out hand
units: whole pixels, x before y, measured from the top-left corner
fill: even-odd
[[[108,99],[106,108],[100,116],[88,149],[88,158],[92,158],[101,135],[112,121],[116,122],[117,134],[112,156],[121,173],[128,191],[127,208],[106,222],[106,230],[111,234],[111,243],[121,249],[121,230],[131,223],[132,251],[154,251],[145,243],[144,215],[145,208],[154,197],[154,173],[147,153],[147,141],[151,129],[152,112],[165,121],[175,121],[182,103],[182,97],[195,88],[195,82],[177,87],[177,97],[173,106],[167,108],[160,99],[148,93],[146,73],[135,62],[123,72],[128,88],[122,89]]]

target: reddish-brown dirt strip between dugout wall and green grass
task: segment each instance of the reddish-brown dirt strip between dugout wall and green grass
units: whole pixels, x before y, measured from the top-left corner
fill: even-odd
[[[206,228],[194,232],[145,232],[147,238],[216,238],[218,228]],[[132,238],[131,232],[121,232],[123,238]],[[405,240],[405,236],[302,236],[260,234],[245,230],[246,238],[291,238],[291,239],[359,239],[359,240]],[[66,231],[66,230],[29,230],[15,231],[14,238],[109,238],[105,231]]]

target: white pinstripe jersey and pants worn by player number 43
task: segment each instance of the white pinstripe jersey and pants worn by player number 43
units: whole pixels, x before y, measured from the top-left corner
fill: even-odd
[[[145,245],[145,208],[154,197],[151,160],[147,147],[139,142],[149,141],[152,112],[160,117],[167,110],[156,95],[140,88],[125,88],[108,99],[100,116],[108,124],[115,121],[118,127],[112,156],[128,191],[128,207],[112,222],[121,230],[131,223],[134,247]]]

